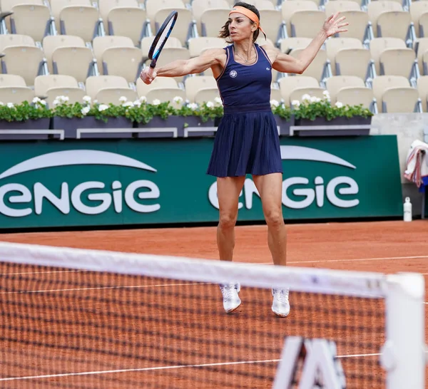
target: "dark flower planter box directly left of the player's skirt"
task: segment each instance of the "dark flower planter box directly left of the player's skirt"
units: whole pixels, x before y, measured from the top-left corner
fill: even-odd
[[[198,116],[175,115],[168,116],[166,119],[156,116],[146,124],[138,123],[137,127],[146,130],[145,132],[137,133],[138,138],[210,136],[214,135],[216,130],[214,120],[208,119],[203,122]],[[200,131],[198,131],[198,128],[200,128]]]

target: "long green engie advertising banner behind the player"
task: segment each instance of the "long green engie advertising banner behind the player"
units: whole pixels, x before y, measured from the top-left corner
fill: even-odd
[[[397,138],[282,138],[287,219],[402,214]],[[0,228],[215,222],[212,138],[0,143]],[[263,220],[250,175],[239,220]]]

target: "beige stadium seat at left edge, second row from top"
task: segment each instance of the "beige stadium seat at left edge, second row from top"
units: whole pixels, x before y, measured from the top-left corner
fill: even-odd
[[[0,52],[2,73],[21,76],[26,85],[34,85],[34,78],[44,71],[44,53],[31,36],[1,34]]]

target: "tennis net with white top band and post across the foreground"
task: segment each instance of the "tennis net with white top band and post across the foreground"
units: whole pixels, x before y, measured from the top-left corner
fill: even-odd
[[[0,261],[1,388],[424,388],[418,274],[10,243]]]

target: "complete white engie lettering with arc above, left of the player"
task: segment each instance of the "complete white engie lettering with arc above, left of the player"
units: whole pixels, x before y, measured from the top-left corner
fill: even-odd
[[[1,173],[1,180],[6,177],[19,175],[33,170],[49,169],[50,167],[63,167],[71,165],[113,165],[123,167],[136,167],[141,170],[156,172],[156,169],[143,162],[114,152],[98,150],[66,150],[50,152],[39,155],[19,163]],[[121,213],[123,202],[135,212],[156,212],[161,208],[160,204],[143,204],[138,199],[158,199],[160,191],[158,186],[149,180],[136,180],[123,187],[118,180],[113,180],[106,185],[101,181],[85,181],[74,187],[70,187],[64,180],[61,183],[61,194],[57,196],[42,181],[49,173],[41,172],[39,180],[27,187],[19,182],[0,186],[0,214],[9,217],[26,217],[33,212],[41,214],[44,207],[44,199],[49,200],[63,214],[68,214],[71,206],[82,214],[101,214],[113,204],[116,213]],[[91,193],[91,190],[97,190]],[[99,192],[103,190],[103,192]],[[87,194],[85,192],[88,191]],[[86,199],[83,202],[83,197]],[[6,199],[7,204],[6,204]],[[86,203],[86,204],[85,204]],[[28,207],[13,207],[14,204],[27,204]],[[34,209],[33,209],[34,207]]]

